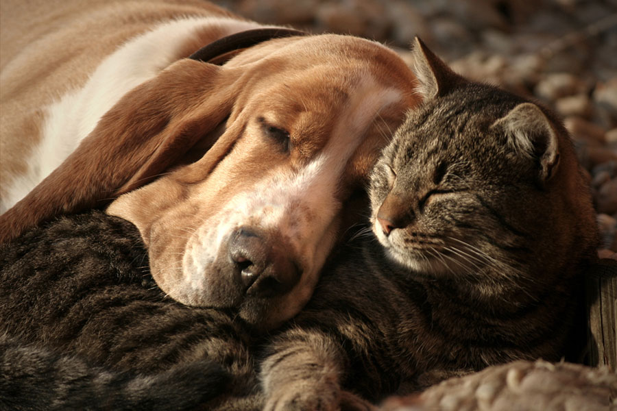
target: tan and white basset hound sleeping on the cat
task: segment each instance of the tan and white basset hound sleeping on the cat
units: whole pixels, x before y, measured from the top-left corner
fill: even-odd
[[[167,295],[258,329],[309,299],[419,103],[378,42],[205,1],[2,0],[0,14],[0,242],[106,208],[136,225]]]

